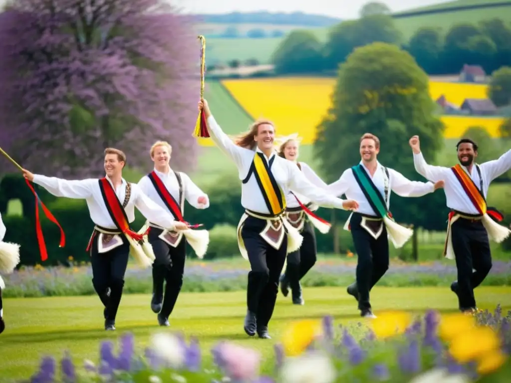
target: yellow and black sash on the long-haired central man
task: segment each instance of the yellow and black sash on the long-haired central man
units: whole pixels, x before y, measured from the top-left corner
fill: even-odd
[[[270,214],[277,216],[286,209],[286,197],[271,173],[274,159],[275,156],[267,163],[263,153],[256,152],[248,174],[242,182],[247,183],[253,173]]]

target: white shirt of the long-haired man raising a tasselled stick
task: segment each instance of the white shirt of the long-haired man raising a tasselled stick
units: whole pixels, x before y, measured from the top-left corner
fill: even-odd
[[[213,141],[222,152],[235,162],[238,167],[239,178],[240,180],[244,180],[248,174],[250,165],[252,164],[255,151],[237,146],[222,131],[213,116],[207,118],[207,126]],[[259,148],[256,149],[256,151],[261,152]],[[294,162],[277,156],[275,152],[273,152],[269,158],[264,154],[263,157],[268,163],[274,157],[273,164],[271,166],[271,173],[273,174],[278,186],[281,187],[285,196],[289,194],[289,190],[296,190],[296,192],[307,196],[312,202],[319,206],[343,209],[343,201],[341,199],[331,196],[324,192],[324,190],[314,186],[309,180],[307,180],[303,173],[300,172]],[[264,201],[263,194],[261,193],[259,185],[253,175],[251,175],[247,183],[242,183],[241,185],[241,205],[245,209],[257,213],[270,214],[270,211]]]

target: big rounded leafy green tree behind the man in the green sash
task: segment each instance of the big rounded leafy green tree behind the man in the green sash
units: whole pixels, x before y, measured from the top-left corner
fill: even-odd
[[[410,179],[422,178],[414,170],[409,138],[420,135],[429,162],[443,146],[445,127],[435,115],[428,76],[396,45],[376,42],[357,48],[340,67],[332,104],[314,143],[329,181],[360,161],[359,140],[367,132],[381,140],[379,160]],[[445,210],[442,193],[403,203],[396,195],[392,199],[400,221],[445,228],[445,216],[426,214],[432,207]]]

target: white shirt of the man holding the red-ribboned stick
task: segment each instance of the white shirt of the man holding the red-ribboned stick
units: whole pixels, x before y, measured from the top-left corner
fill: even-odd
[[[106,177],[106,179],[113,186],[110,179],[108,177]],[[62,178],[46,177],[36,174],[34,175],[33,182],[41,185],[56,197],[84,199],[87,202],[92,222],[105,229],[117,230],[117,226],[115,226],[106,208],[97,178],[69,181]],[[122,204],[126,195],[126,180],[124,178],[122,179],[121,186],[115,190],[115,195],[117,195],[117,198]],[[174,228],[174,218],[172,215],[151,201],[137,184],[132,183],[131,196],[124,209],[129,223],[135,220],[135,207],[140,210],[143,216],[149,221],[167,229]]]

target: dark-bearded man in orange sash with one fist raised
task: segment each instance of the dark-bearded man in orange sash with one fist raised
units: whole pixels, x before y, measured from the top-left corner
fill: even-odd
[[[410,138],[410,146],[417,173],[431,181],[445,180],[446,203],[451,212],[444,255],[456,259],[458,270],[458,280],[451,284],[451,290],[458,297],[461,312],[476,312],[474,289],[492,268],[489,237],[500,243],[511,233],[495,222],[502,221],[502,214],[487,206],[485,198],[490,183],[511,168],[511,150],[479,165],[475,163],[477,144],[463,138],[456,145],[459,163],[444,167],[426,163],[419,136]]]

